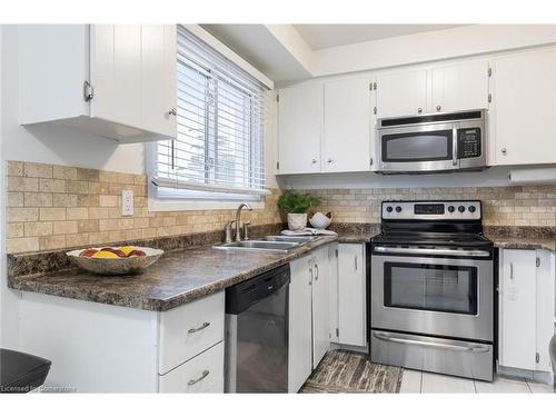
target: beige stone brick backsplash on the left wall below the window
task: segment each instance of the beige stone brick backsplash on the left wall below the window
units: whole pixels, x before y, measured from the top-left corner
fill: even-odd
[[[121,191],[133,190],[133,216],[121,216]],[[279,190],[252,225],[280,222]],[[222,230],[235,210],[149,211],[147,177],[47,163],[7,162],[7,251],[33,252],[123,240]]]

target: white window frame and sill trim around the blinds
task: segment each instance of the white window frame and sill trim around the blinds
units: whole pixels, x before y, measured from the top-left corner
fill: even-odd
[[[202,41],[208,43],[215,50],[230,59],[241,69],[258,79],[267,88],[272,89],[274,83],[255,67],[245,61],[241,57],[235,53],[231,49],[214,38],[197,24],[185,24],[187,30],[196,34]],[[266,129],[266,126],[264,127]],[[265,156],[262,156],[265,158]],[[170,188],[161,188],[152,183],[152,178],[156,171],[157,163],[157,143],[146,145],[146,166],[148,177],[148,210],[149,211],[173,211],[173,210],[205,210],[205,209],[234,209],[238,203],[248,201],[252,208],[265,208],[265,196],[262,195],[240,195],[227,192],[210,192],[205,191],[206,197],[188,198],[176,197],[172,193],[179,195],[179,190],[173,192]],[[187,192],[187,191],[186,191]]]

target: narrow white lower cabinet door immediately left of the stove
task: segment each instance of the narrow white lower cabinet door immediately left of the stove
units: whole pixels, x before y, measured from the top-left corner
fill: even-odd
[[[338,246],[339,342],[367,345],[364,245]]]

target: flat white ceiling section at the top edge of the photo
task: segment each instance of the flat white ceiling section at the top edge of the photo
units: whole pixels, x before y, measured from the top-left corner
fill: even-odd
[[[456,28],[464,24],[294,24],[312,50]]]

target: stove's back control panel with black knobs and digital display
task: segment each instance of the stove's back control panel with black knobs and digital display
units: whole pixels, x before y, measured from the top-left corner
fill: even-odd
[[[383,201],[383,219],[480,220],[479,200]]]

